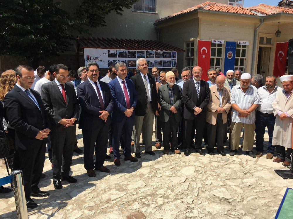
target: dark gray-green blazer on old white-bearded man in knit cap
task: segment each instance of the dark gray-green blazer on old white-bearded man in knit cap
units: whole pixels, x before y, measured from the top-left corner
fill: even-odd
[[[181,91],[181,87],[178,86],[177,84],[174,84],[173,87],[174,87],[173,106],[177,109],[177,112],[175,113],[175,119],[177,122],[180,122],[181,121],[180,107],[183,103],[182,91]],[[161,106],[160,121],[167,122],[169,120],[170,114],[172,113],[170,111],[170,108],[172,105],[170,104],[167,84],[159,87],[158,102]]]

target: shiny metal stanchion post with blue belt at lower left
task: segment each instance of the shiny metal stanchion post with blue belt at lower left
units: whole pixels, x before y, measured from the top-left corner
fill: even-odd
[[[14,170],[11,172],[11,181],[18,219],[28,219],[28,209],[26,208],[25,193],[23,188],[22,171]]]

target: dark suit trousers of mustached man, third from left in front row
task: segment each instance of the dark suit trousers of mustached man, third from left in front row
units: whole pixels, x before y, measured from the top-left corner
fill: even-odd
[[[102,124],[100,128],[94,130],[82,129],[84,138],[84,168],[86,170],[103,166],[107,153],[109,125]],[[95,163],[93,162],[94,151],[96,154]]]

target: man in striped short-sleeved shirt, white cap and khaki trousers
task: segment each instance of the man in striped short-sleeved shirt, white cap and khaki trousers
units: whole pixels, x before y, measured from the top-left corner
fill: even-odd
[[[250,157],[255,158],[252,152],[255,130],[255,109],[260,101],[257,88],[250,85],[251,75],[243,73],[239,85],[231,90],[231,156],[236,155],[239,148],[241,129],[244,127],[244,138],[242,150],[246,151]]]

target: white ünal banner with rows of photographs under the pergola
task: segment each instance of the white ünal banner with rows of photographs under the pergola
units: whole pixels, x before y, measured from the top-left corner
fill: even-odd
[[[117,62],[124,62],[128,68],[136,68],[139,58],[145,58],[149,68],[175,68],[177,65],[176,51],[84,49],[84,65],[97,62],[100,68],[108,68]]]

